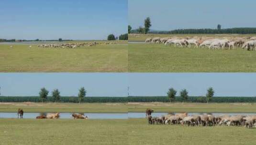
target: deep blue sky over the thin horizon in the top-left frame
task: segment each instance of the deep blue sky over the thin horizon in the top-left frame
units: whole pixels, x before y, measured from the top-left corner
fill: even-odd
[[[1,0],[0,38],[103,40],[127,33],[127,0]]]

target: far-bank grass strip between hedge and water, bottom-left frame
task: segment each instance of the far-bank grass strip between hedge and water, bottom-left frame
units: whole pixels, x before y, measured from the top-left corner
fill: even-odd
[[[19,108],[25,113],[127,113],[128,111],[128,106],[124,103],[0,103],[0,112],[17,112]]]

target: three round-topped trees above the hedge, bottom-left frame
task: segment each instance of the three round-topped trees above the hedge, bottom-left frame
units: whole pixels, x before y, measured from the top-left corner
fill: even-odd
[[[86,96],[86,93],[87,93],[87,92],[86,92],[86,90],[85,90],[84,87],[81,87],[81,88],[79,89],[79,93],[78,93],[79,104],[81,103],[81,100]],[[42,89],[40,90],[40,92],[39,92],[39,97],[41,98],[42,103],[47,99],[48,94],[49,94],[49,91],[46,90],[45,88],[42,88]],[[53,90],[53,92],[52,92],[52,97],[53,97],[53,100],[54,100],[55,102],[60,101],[60,97],[61,97],[61,96],[60,96],[60,92],[59,92],[58,89]]]

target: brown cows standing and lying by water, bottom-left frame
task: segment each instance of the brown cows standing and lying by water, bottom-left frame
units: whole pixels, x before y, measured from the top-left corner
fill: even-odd
[[[23,110],[18,109],[18,118],[23,118]],[[59,113],[54,114],[43,114],[36,116],[36,119],[58,119],[60,117]],[[83,114],[72,114],[70,117],[73,117],[74,119],[88,119],[88,116],[84,116]]]

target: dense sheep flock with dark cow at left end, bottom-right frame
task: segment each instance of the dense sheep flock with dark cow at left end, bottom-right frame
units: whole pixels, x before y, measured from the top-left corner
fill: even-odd
[[[245,126],[247,128],[256,127],[256,115],[221,115],[211,114],[188,115],[188,113],[167,114],[160,117],[152,117],[153,109],[146,109],[146,118],[149,124],[180,124],[187,126],[216,126],[233,125]]]

